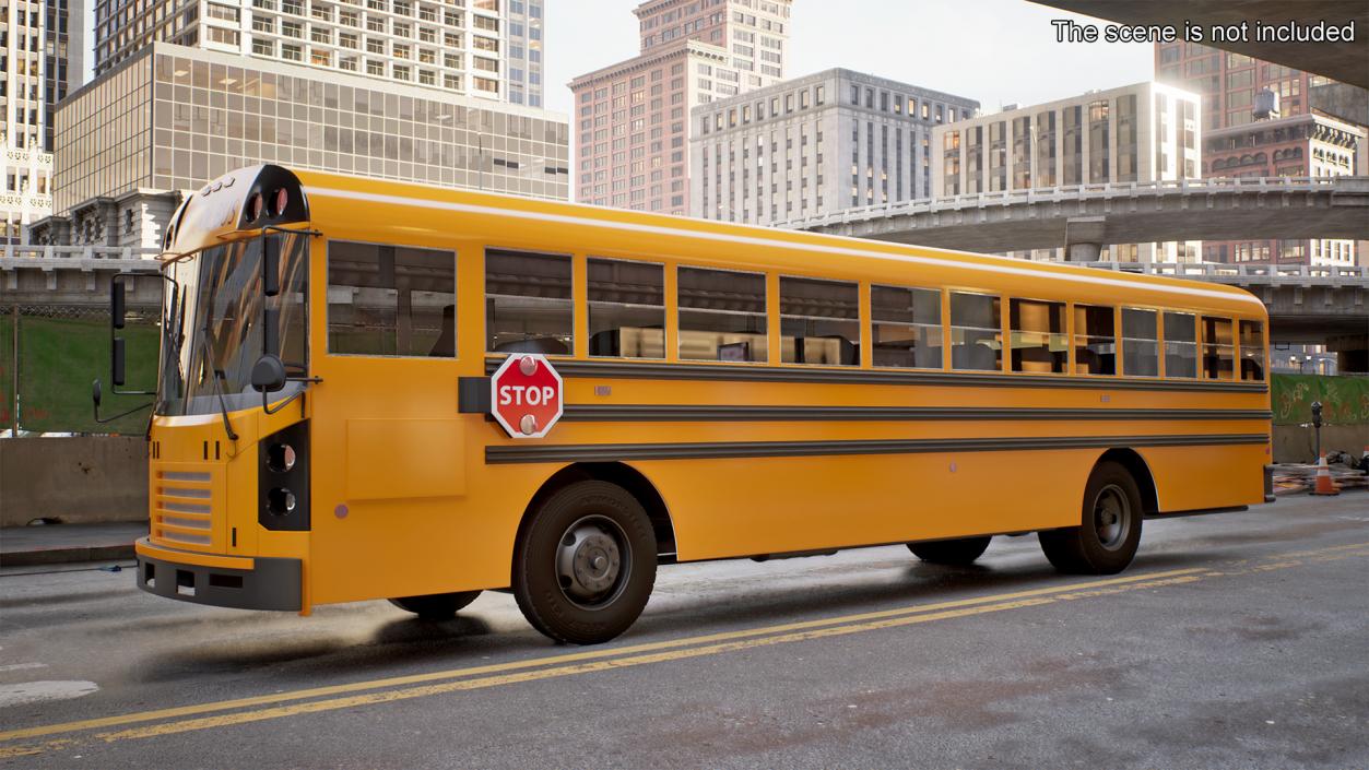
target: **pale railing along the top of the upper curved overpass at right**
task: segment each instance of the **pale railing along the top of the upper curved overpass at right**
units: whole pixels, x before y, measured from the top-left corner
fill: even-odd
[[[1231,176],[1214,179],[1164,179],[1160,182],[1109,182],[1101,185],[1072,185],[1029,190],[1002,190],[997,193],[968,193],[942,198],[919,198],[893,204],[849,208],[835,213],[810,215],[776,222],[775,227],[809,230],[828,224],[845,224],[869,219],[887,219],[941,211],[977,209],[991,207],[1029,205],[1064,201],[1105,198],[1135,198],[1140,196],[1186,194],[1249,194],[1249,193],[1369,193],[1369,176]]]

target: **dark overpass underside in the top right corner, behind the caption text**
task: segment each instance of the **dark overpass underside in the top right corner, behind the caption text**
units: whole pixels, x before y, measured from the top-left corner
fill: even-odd
[[[1343,83],[1369,88],[1369,66],[1365,64],[1364,34],[1369,33],[1369,3],[1364,0],[1034,0],[1040,5],[1060,8],[1108,19],[1123,25],[1172,25],[1183,30],[1186,21],[1201,27],[1213,25],[1240,25],[1249,22],[1249,41],[1207,41],[1206,45],[1233,51],[1275,62],[1295,70],[1306,70],[1338,79]],[[1355,25],[1355,42],[1259,42],[1254,23],[1285,25],[1290,21],[1306,27],[1327,25]]]

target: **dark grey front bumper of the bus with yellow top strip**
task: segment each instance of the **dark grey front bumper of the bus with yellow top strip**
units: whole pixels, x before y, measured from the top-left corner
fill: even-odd
[[[141,537],[138,588],[148,594],[240,610],[304,607],[300,559],[244,558],[197,554],[153,544]]]

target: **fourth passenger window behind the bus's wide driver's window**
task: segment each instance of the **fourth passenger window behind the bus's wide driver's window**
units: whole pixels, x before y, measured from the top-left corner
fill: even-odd
[[[780,276],[780,361],[858,365],[858,295],[854,283]]]

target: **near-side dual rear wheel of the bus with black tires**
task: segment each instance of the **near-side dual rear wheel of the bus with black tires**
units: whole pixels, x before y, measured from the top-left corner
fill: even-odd
[[[1080,525],[1036,536],[1040,550],[1060,572],[1116,574],[1136,555],[1143,514],[1131,472],[1116,462],[1099,462],[1084,486]]]

